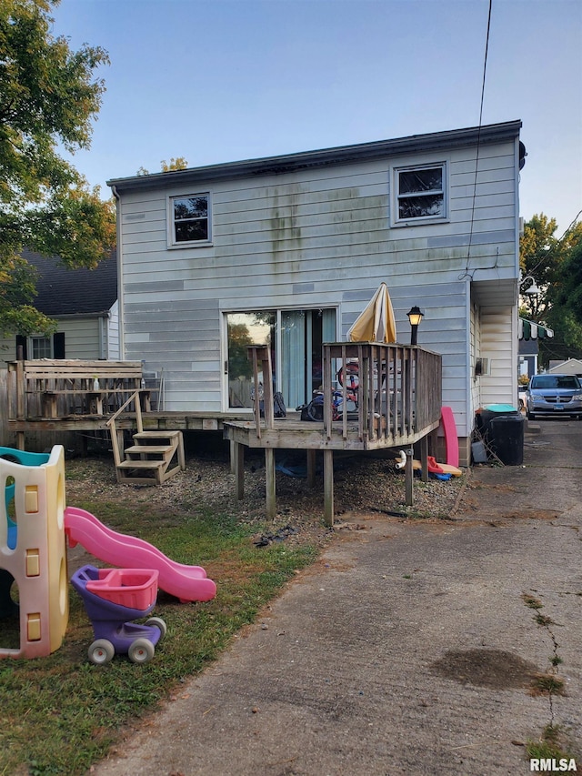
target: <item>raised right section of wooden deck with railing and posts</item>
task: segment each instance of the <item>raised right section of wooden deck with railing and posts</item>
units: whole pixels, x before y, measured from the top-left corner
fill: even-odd
[[[276,449],[305,449],[307,479],[315,482],[315,453],[324,457],[324,512],[328,525],[334,521],[333,454],[336,450],[406,450],[406,504],[413,503],[412,447],[419,443],[423,479],[427,479],[429,436],[440,424],[441,358],[416,346],[379,343],[328,343],[323,348],[323,419],[276,419],[271,381],[264,385],[264,414],[258,403],[253,420],[226,421],[225,437],[233,446],[236,493],[244,495],[244,450],[264,448],[266,464],[266,515],[276,515]],[[270,349],[249,348],[253,361],[255,395],[262,375],[271,375]],[[340,365],[357,364],[357,407],[348,411],[348,388],[341,388],[340,410],[333,407],[332,388]]]

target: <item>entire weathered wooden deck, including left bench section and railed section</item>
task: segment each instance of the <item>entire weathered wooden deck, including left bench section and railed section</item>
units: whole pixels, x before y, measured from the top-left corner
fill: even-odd
[[[249,348],[256,396],[263,375],[271,375],[270,349]],[[332,388],[340,366],[357,365],[356,408],[350,409],[350,388],[340,387],[340,408],[332,407]],[[429,438],[441,414],[441,358],[416,346],[380,343],[327,343],[323,347],[323,419],[301,420],[296,412],[276,419],[271,380],[265,381],[265,418],[256,404],[228,412],[172,412],[157,409],[155,388],[142,388],[141,362],[15,361],[7,380],[7,428],[24,449],[27,431],[95,431],[126,399],[140,395],[146,431],[220,431],[231,443],[236,492],[244,494],[244,449],[263,448],[266,456],[266,514],[276,514],[276,449],[305,449],[307,477],[315,483],[316,452],[324,457],[325,517],[334,519],[333,454],[338,450],[371,452],[404,449],[406,503],[412,504],[412,447],[418,444],[427,472]],[[98,388],[97,388],[98,383]],[[135,412],[116,418],[116,430],[134,430]],[[434,452],[434,451],[433,451]],[[425,475],[426,476],[426,475]]]

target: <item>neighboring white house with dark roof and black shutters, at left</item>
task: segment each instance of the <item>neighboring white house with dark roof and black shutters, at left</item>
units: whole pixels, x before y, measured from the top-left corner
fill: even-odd
[[[115,249],[95,269],[67,269],[58,258],[23,251],[38,272],[34,305],[55,318],[56,332],[45,337],[0,340],[0,366],[24,358],[119,358],[117,256]]]

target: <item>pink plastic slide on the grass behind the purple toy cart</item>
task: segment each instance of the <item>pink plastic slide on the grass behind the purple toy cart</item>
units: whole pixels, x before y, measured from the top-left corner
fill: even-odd
[[[77,507],[65,509],[65,534],[69,547],[81,544],[95,558],[121,569],[156,569],[159,587],[185,603],[211,600],[216,584],[207,579],[201,566],[184,566],[166,558],[163,552],[144,539],[108,529],[90,512]]]

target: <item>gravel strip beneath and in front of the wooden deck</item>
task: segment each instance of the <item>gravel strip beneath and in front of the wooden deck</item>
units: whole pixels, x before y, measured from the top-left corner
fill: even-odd
[[[286,457],[293,466],[302,458]],[[225,457],[208,459],[188,456],[186,471],[179,472],[159,487],[120,485],[115,479],[113,460],[99,456],[71,459],[66,463],[66,502],[75,505],[81,499],[156,504],[173,515],[193,509],[216,509],[256,523],[265,531],[265,466],[262,456],[249,456],[245,470],[245,496],[236,499],[235,476]],[[336,456],[335,507],[336,527],[342,519],[353,521],[358,515],[388,515],[443,519],[456,509],[460,494],[467,488],[468,475],[449,480],[415,478],[414,506],[405,506],[404,472],[397,471],[393,459],[366,456]],[[291,527],[295,541],[325,543],[330,536],[323,523],[323,483],[309,489],[306,479],[276,474],[276,519],[268,530],[276,533]],[[99,517],[98,515],[96,517]],[[352,524],[352,522],[350,522]]]

